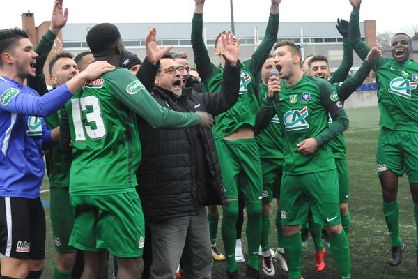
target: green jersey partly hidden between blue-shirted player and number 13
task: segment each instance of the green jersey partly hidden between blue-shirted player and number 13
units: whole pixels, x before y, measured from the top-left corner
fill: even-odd
[[[45,117],[48,130],[59,126],[60,110]],[[45,153],[49,187],[69,187],[72,156],[54,145]]]

